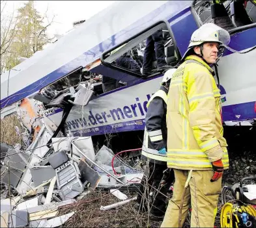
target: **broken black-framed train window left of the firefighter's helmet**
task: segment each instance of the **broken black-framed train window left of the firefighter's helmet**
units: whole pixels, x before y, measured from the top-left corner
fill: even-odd
[[[147,78],[175,66],[180,59],[171,27],[159,21],[102,55],[102,64]]]

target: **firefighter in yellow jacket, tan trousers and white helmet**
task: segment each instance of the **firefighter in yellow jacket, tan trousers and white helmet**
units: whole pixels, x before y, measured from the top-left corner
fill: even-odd
[[[229,41],[229,33],[217,25],[202,25],[193,32],[184,62],[173,74],[167,96],[167,166],[173,168],[176,181],[161,227],[178,227],[182,198],[181,225],[191,205],[191,227],[214,227],[221,176],[229,158],[220,90],[210,66],[221,45]]]

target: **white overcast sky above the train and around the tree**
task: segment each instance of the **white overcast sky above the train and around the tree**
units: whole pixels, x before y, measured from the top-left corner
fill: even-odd
[[[10,14],[13,10],[24,5],[27,1],[7,1],[5,12]],[[53,25],[48,28],[48,34],[63,34],[72,29],[72,23],[82,19],[89,19],[115,1],[35,1],[35,7],[44,14],[48,7],[48,18],[55,15]],[[1,5],[2,8],[2,5]]]

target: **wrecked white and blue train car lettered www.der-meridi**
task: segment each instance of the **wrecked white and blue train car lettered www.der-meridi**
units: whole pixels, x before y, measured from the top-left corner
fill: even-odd
[[[167,68],[176,68],[190,37],[203,23],[229,31],[231,42],[218,62],[225,125],[256,120],[256,6],[254,1],[118,2],[68,32],[49,47],[1,75],[1,116],[25,97],[41,101],[44,116],[73,136],[141,134],[147,101]],[[241,16],[242,15],[242,16]],[[167,68],[143,74],[145,43],[162,31]],[[137,62],[133,71],[119,58]],[[19,81],[19,83],[17,83]],[[55,134],[57,135],[57,133]],[[142,134],[141,134],[142,135]]]

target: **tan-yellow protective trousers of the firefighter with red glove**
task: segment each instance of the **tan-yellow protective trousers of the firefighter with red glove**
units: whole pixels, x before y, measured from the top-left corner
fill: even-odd
[[[178,227],[182,192],[189,172],[189,170],[174,169],[175,184],[173,186],[173,197],[169,200],[169,205],[161,227]],[[191,205],[192,215],[190,227],[214,227],[218,196],[221,192],[221,178],[216,182],[210,182],[212,175],[213,171],[210,170],[192,171],[192,178],[186,189],[186,194],[184,195],[181,216],[182,226]]]

